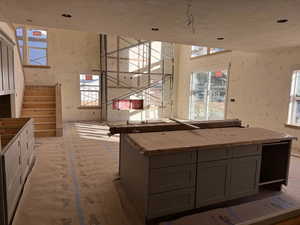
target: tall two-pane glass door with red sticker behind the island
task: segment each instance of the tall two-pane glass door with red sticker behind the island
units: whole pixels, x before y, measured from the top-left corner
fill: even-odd
[[[191,75],[191,120],[222,120],[225,117],[227,71]]]

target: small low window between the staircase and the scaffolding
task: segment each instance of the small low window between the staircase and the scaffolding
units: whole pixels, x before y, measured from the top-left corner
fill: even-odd
[[[80,74],[80,106],[100,106],[100,76]]]

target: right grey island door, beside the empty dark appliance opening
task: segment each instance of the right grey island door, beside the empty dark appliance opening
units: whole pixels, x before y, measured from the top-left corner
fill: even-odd
[[[232,159],[229,198],[240,198],[258,192],[261,156]]]

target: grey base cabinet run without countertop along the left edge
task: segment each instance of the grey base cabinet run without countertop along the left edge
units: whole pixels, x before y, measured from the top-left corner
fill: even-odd
[[[20,121],[21,120],[21,121]],[[1,122],[1,121],[0,121]],[[34,135],[32,119],[5,120],[7,129],[20,127],[0,148],[0,224],[9,225],[33,164]],[[4,129],[4,128],[3,128]]]

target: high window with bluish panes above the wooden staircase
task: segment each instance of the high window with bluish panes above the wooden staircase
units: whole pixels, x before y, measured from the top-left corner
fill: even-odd
[[[48,34],[46,30],[17,27],[16,36],[24,65],[48,65]]]

